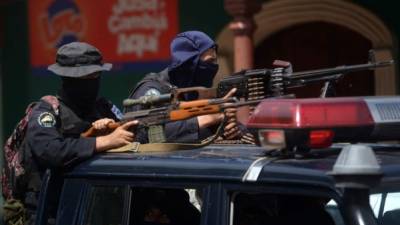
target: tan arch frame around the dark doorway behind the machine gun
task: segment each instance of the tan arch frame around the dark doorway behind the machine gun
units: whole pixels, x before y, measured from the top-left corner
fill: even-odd
[[[394,43],[390,30],[372,12],[345,0],[275,0],[263,4],[262,10],[255,16],[257,30],[254,33],[254,45],[259,45],[271,36],[309,23],[325,23],[346,28],[361,35],[371,43],[376,60],[388,60],[394,57]],[[316,38],[315,38],[316,39]],[[232,73],[233,35],[226,26],[216,38],[219,44],[220,71],[215,81]],[[361,54],[366,54],[365,52]],[[367,56],[363,62],[365,62]],[[345,64],[352,62],[346,61]],[[395,60],[396,63],[396,60]],[[342,63],[343,64],[343,63]],[[299,71],[301,65],[294,65]],[[334,66],[334,65],[332,65]],[[396,94],[397,65],[374,71],[375,95]]]

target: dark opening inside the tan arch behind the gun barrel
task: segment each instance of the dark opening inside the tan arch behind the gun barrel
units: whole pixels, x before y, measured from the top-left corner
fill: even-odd
[[[372,43],[362,35],[332,23],[311,22],[292,26],[266,38],[255,49],[254,67],[270,68],[274,59],[287,60],[294,71],[362,64]],[[366,70],[338,80],[335,96],[374,95],[374,73]],[[323,82],[288,90],[297,97],[318,97]]]

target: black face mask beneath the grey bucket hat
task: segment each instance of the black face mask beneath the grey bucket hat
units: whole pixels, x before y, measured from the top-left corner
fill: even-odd
[[[100,89],[100,77],[94,79],[62,77],[59,96],[79,116],[85,117],[95,109]]]

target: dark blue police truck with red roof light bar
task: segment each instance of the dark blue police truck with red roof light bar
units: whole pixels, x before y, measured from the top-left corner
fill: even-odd
[[[259,146],[99,154],[63,174],[56,218],[49,216],[55,175],[48,172],[36,224],[400,224],[400,145],[380,142],[400,136],[400,98],[341,99],[333,104],[344,112],[339,122],[317,100],[326,110],[325,120],[316,118],[323,126],[304,122],[307,102],[261,103],[248,123]],[[271,101],[283,108],[271,109]],[[389,122],[372,115],[379,104],[391,110]],[[274,113],[281,118],[271,119]]]

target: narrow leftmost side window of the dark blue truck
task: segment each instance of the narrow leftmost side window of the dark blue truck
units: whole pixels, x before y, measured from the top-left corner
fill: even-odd
[[[86,211],[86,225],[121,225],[124,207],[124,187],[94,186]]]

